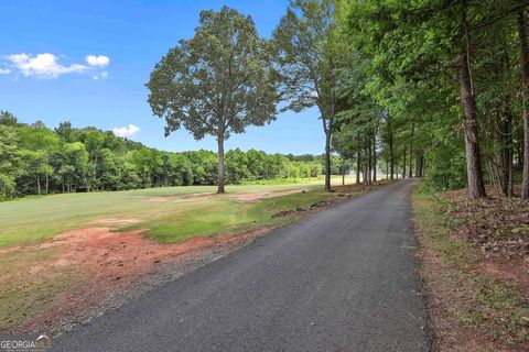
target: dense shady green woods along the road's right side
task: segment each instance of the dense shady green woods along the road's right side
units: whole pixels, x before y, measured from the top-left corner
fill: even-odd
[[[352,55],[335,131],[348,154],[472,198],[485,183],[511,196],[523,174],[529,197],[526,1],[334,4]]]

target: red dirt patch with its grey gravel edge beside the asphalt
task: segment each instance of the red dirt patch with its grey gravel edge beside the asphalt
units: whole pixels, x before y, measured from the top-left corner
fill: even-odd
[[[154,282],[173,279],[204,265],[248,240],[268,233],[271,228],[236,235],[196,237],[175,244],[161,244],[141,237],[145,230],[112,232],[114,228],[98,227],[68,231],[52,241],[11,251],[32,252],[55,249],[56,255],[31,266],[19,275],[35,275],[55,279],[55,268],[73,268],[83,278],[68,287],[44,311],[1,332],[61,331],[75,322],[89,320],[104,310],[122,304],[129,296],[159,285]],[[13,254],[17,254],[13,253]],[[29,275],[31,272],[32,275]],[[9,277],[0,277],[0,282]],[[1,284],[1,283],[0,283]],[[31,283],[24,283],[31,285]],[[23,287],[21,287],[23,289]],[[20,309],[31,310],[32,307]]]

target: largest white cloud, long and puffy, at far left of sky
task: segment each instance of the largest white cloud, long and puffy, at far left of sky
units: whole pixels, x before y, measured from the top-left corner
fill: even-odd
[[[4,56],[4,58],[11,62],[12,66],[25,77],[57,78],[60,75],[83,73],[88,69],[88,67],[79,64],[63,66],[58,64],[58,57],[50,53],[35,56],[31,54],[13,54]]]

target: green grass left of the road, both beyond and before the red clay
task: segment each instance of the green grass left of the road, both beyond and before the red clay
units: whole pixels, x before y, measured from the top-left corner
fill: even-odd
[[[335,177],[333,183],[341,185],[342,179]],[[353,178],[348,177],[347,184],[352,183]],[[303,212],[272,216],[299,207],[307,208],[338,195],[323,191],[323,180],[228,186],[226,195],[216,195],[215,191],[214,186],[165,187],[51,195],[0,202],[0,249],[43,242],[68,230],[93,227],[112,227],[116,231],[149,229],[143,235],[162,243],[240,233],[285,224]],[[356,188],[343,191],[360,193]],[[90,271],[86,264],[55,265],[65,249],[72,248],[44,245],[0,250],[0,331],[2,326],[12,328],[25,323],[67,304],[72,296],[83,295],[84,285],[90,283]],[[118,254],[114,255],[107,257],[112,267],[116,266],[114,261],[119,258]],[[100,258],[94,257],[94,261]],[[122,270],[127,273],[127,265]]]

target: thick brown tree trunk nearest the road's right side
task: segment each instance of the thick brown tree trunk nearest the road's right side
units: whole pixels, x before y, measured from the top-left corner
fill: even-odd
[[[483,182],[482,155],[479,151],[479,139],[477,129],[476,100],[473,91],[469,47],[468,47],[468,25],[466,20],[466,9],[464,10],[463,28],[463,47],[460,54],[460,97],[461,110],[463,112],[463,125],[465,134],[466,151],[466,177],[468,196],[471,198],[485,197],[485,184]]]

